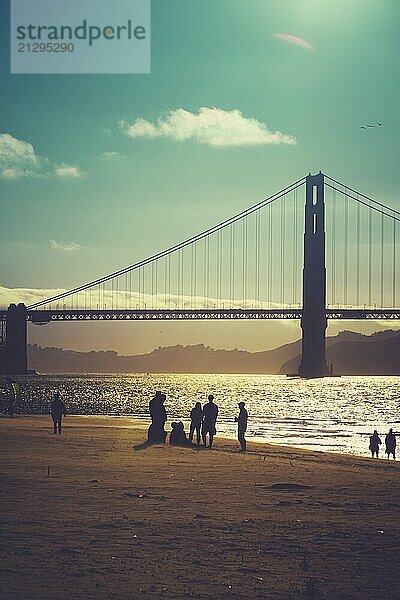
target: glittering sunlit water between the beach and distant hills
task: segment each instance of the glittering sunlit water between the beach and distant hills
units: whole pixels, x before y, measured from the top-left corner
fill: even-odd
[[[243,400],[247,438],[312,450],[368,455],[369,435],[389,427],[400,433],[400,377],[291,379],[275,375],[41,375],[19,379],[20,413],[47,413],[60,391],[71,414],[132,416],[149,423],[156,390],[167,395],[168,424],[188,416],[212,393],[219,406],[217,435],[235,438],[234,417]],[[383,439],[382,439],[383,441]],[[382,451],[383,455],[383,451]]]

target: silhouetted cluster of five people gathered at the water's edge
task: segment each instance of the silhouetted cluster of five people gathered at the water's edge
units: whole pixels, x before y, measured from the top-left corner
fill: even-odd
[[[165,431],[165,423],[167,422],[167,412],[164,402],[166,395],[160,391],[156,392],[154,398],[149,402],[149,411],[151,416],[151,425],[147,434],[149,444],[164,444],[167,432]],[[216,423],[218,418],[218,406],[214,402],[214,396],[208,396],[208,402],[201,406],[200,402],[196,402],[190,411],[190,430],[189,438],[186,435],[185,427],[182,421],[174,421],[171,424],[171,433],[169,443],[172,446],[198,447],[202,440],[205,448],[213,447],[214,436],[217,433]],[[247,429],[248,414],[245,409],[245,403],[239,402],[239,415],[235,417],[235,422],[238,424],[238,440],[240,442],[241,451],[246,451],[245,433]],[[193,438],[196,435],[196,444]],[[208,446],[207,446],[208,439]]]

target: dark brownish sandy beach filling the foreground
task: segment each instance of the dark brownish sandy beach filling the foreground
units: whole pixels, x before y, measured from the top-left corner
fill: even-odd
[[[400,598],[399,464],[0,419],[0,597]]]

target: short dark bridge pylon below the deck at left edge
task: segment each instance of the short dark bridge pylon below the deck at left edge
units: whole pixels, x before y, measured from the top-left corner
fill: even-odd
[[[27,373],[26,306],[10,304],[6,318],[6,353],[3,369],[10,375]]]

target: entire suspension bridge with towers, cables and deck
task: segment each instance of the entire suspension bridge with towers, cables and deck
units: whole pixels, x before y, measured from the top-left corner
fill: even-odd
[[[399,222],[398,210],[309,174],[149,258],[0,310],[0,373],[28,372],[28,322],[297,319],[299,375],[328,375],[328,319],[400,318]]]

